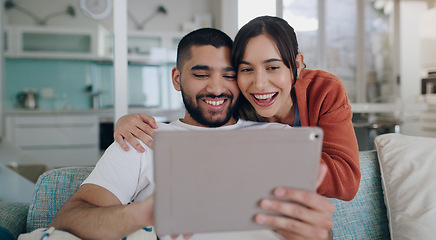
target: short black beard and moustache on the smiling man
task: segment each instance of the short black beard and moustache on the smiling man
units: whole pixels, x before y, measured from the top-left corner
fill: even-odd
[[[183,103],[185,104],[185,108],[188,111],[188,113],[191,115],[191,117],[198,122],[199,124],[206,126],[206,127],[221,127],[228,123],[230,121],[230,118],[232,118],[233,114],[235,113],[237,109],[237,99],[236,101],[233,101],[233,95],[230,94],[221,94],[219,96],[207,94],[207,95],[197,95],[196,101],[199,102],[200,98],[203,97],[210,97],[210,98],[218,98],[218,97],[227,97],[228,101],[230,101],[229,107],[227,110],[227,115],[224,117],[224,119],[218,119],[218,120],[212,120],[212,117],[209,119],[205,116],[204,111],[200,108],[199,104],[197,106],[195,103],[192,102],[192,98],[185,94],[183,91],[183,87],[181,87],[182,97],[183,97]],[[231,103],[234,103],[231,105]],[[224,110],[225,111],[225,110]]]

